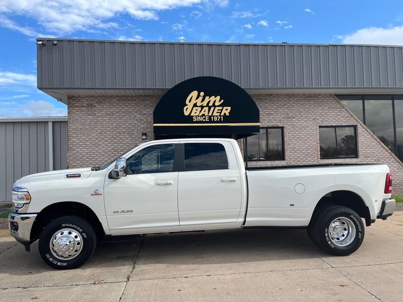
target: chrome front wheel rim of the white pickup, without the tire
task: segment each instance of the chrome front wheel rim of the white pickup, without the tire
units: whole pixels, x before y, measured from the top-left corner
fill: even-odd
[[[83,249],[83,238],[73,229],[62,229],[50,238],[49,248],[57,259],[70,260],[77,257]]]

